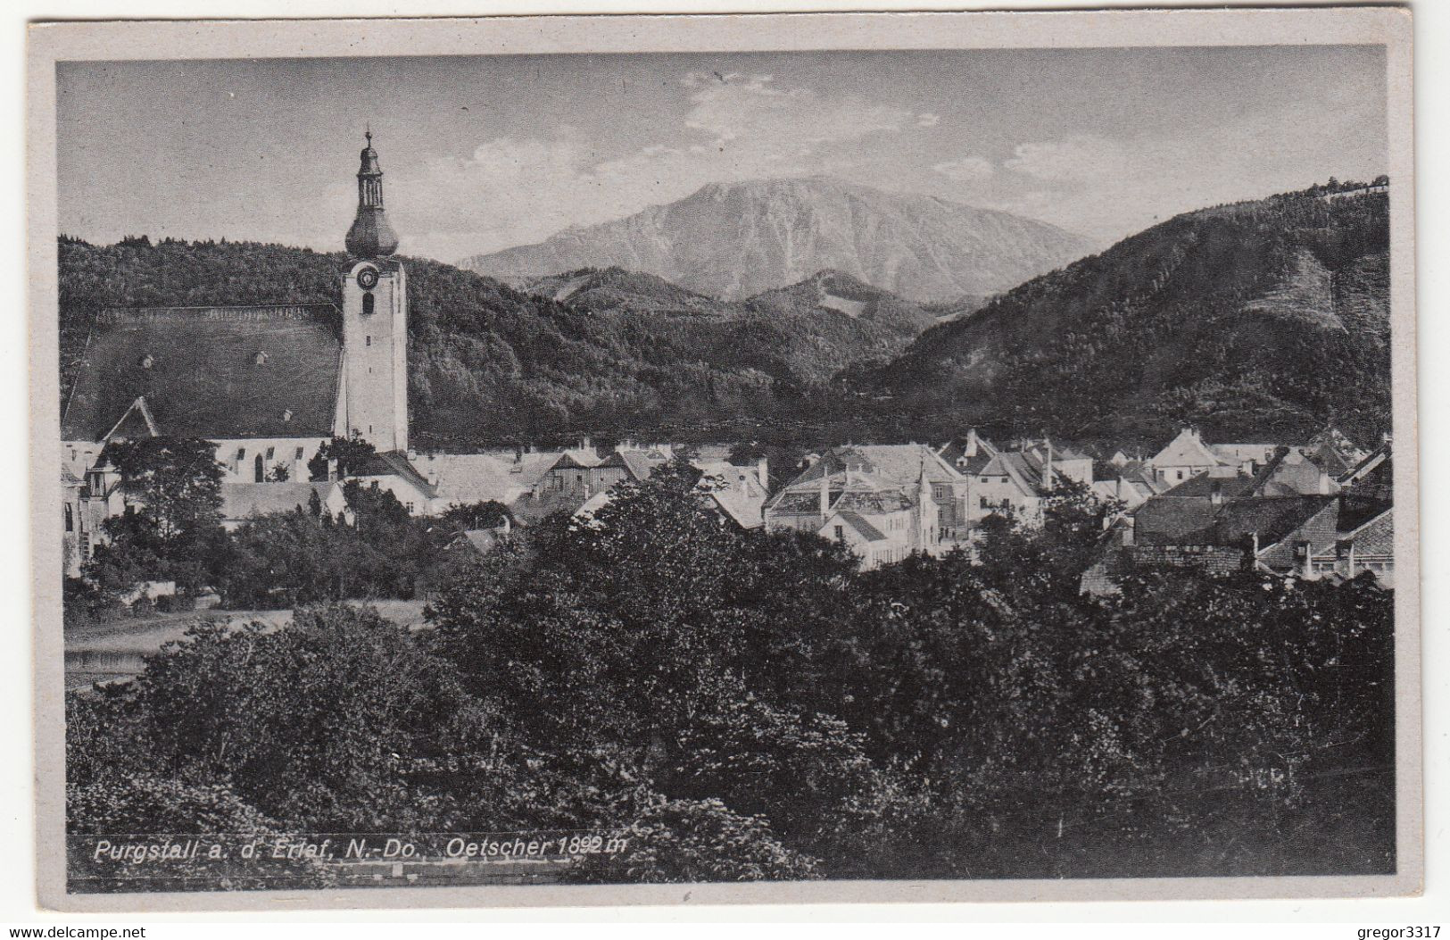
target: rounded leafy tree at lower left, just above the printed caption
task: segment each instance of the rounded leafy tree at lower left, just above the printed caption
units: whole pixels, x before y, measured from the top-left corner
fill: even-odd
[[[371,609],[299,608],[284,630],[199,625],[138,679],[157,767],[229,780],[304,831],[436,824],[415,775],[487,747],[489,720],[448,663]]]

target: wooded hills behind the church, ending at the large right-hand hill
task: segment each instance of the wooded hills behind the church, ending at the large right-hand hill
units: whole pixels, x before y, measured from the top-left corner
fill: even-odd
[[[107,306],[339,302],[341,254],[251,242],[59,242],[62,396],[91,316]],[[826,406],[829,379],[915,335],[812,305],[725,303],[618,268],[526,293],[406,260],[409,405],[423,442],[580,431],[754,437]],[[563,297],[564,302],[554,297]]]

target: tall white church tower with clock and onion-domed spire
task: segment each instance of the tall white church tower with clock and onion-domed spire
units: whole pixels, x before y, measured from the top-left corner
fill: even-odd
[[[342,274],[341,437],[362,435],[380,453],[407,450],[407,277],[392,258],[397,234],[383,215],[383,170],[367,132],[358,168],[358,213]]]

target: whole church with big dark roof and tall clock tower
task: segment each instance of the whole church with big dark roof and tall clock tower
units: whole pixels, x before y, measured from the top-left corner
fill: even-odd
[[[307,480],[307,464],[334,437],[406,453],[407,281],[392,257],[397,235],[365,136],[351,258],[338,273],[341,310],[278,303],[96,315],[61,416],[64,470],[83,482],[68,487],[64,511],[72,572],[103,538],[93,521],[123,511],[119,480],[93,473],[110,441],[213,441],[228,483]]]

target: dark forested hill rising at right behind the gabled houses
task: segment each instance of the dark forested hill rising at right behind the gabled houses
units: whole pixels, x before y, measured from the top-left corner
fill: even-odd
[[[1338,189],[1346,189],[1340,186]],[[854,377],[889,415],[1070,438],[1391,426],[1389,207],[1324,187],[1190,212],[922,334]]]

